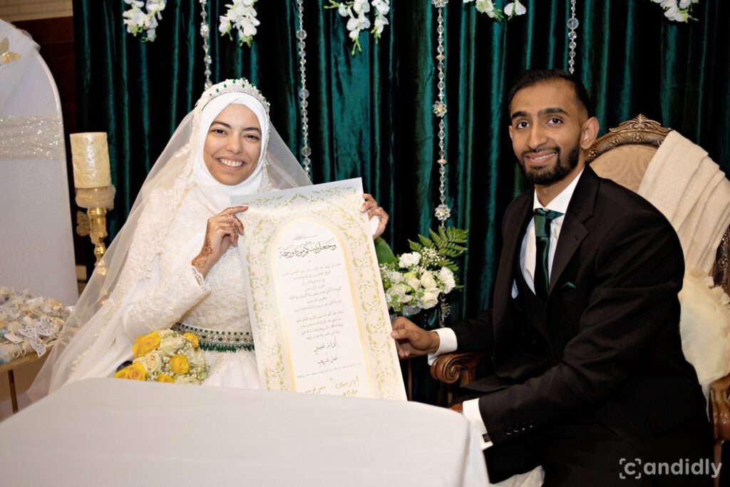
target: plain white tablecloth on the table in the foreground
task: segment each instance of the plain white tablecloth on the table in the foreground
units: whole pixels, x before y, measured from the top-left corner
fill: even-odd
[[[88,379],[0,423],[7,486],[483,486],[461,415],[414,402]]]

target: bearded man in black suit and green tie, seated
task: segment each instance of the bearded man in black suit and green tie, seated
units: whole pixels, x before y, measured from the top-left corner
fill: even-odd
[[[586,166],[599,126],[572,74],[526,72],[507,107],[534,188],[504,215],[493,308],[437,331],[398,318],[399,355],[490,354],[493,373],[467,386],[477,399],[463,413],[483,433],[492,482],[542,465],[546,486],[711,485],[688,469],[641,475],[652,462],[712,457],[681,349],[674,229]]]

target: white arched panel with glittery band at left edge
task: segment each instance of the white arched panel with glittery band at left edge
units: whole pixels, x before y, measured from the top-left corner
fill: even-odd
[[[0,20],[6,37],[20,58],[0,61],[0,285],[68,306],[78,290],[61,101],[37,44]]]

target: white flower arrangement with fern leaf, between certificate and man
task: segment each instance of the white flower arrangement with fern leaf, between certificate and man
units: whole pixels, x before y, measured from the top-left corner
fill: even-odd
[[[431,238],[419,235],[419,242],[410,242],[411,253],[380,265],[380,277],[385,288],[388,310],[396,314],[415,315],[430,310],[454,289],[461,289],[452,259],[466,252],[468,230],[429,230]]]

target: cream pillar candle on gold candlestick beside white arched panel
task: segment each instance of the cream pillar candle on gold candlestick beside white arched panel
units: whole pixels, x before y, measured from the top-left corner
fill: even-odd
[[[104,132],[71,134],[76,204],[87,211],[77,212],[76,233],[91,237],[96,256],[96,272],[106,274],[104,253],[107,245],[107,210],[114,208],[115,188],[109,165],[109,146]]]

